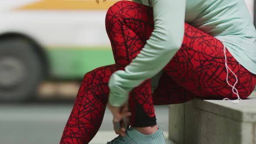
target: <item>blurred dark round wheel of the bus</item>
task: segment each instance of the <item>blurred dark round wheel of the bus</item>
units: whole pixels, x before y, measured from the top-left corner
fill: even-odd
[[[35,98],[43,80],[43,64],[26,39],[0,39],[0,101]]]

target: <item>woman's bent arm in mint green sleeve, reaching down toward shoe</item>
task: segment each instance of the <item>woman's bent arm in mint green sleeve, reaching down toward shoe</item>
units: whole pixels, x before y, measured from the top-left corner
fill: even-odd
[[[109,80],[109,103],[113,106],[123,105],[129,92],[160,72],[181,47],[186,0],[152,0],[151,4],[154,30],[150,38],[125,71],[116,71]]]

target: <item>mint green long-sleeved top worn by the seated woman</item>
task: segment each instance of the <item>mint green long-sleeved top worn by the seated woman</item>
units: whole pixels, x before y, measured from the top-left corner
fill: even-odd
[[[132,0],[149,6],[148,0]],[[112,74],[109,102],[121,106],[128,93],[146,79],[152,91],[161,71],[180,49],[184,22],[224,41],[234,58],[256,74],[256,30],[244,0],[149,0],[154,30],[132,62]]]

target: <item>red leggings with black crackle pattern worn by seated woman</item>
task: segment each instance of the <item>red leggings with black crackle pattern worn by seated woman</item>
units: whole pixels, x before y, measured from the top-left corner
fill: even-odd
[[[85,74],[75,105],[60,144],[88,144],[97,133],[108,101],[108,80],[113,72],[124,69],[143,48],[154,29],[152,8],[131,1],[115,3],[106,15],[106,30],[112,44],[115,64]],[[226,50],[227,64],[236,74],[236,88],[247,98],[256,84],[253,75]],[[156,124],[153,105],[169,105],[192,98],[236,98],[226,83],[223,44],[185,23],[181,49],[164,67],[158,87],[151,93],[150,79],[130,93],[131,125]],[[154,66],[154,65],[152,65]],[[230,74],[230,83],[236,82]]]

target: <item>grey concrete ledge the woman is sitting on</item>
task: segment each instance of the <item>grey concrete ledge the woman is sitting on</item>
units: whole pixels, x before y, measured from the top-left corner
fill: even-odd
[[[170,105],[169,117],[176,144],[256,144],[256,91],[239,104],[194,99]]]

